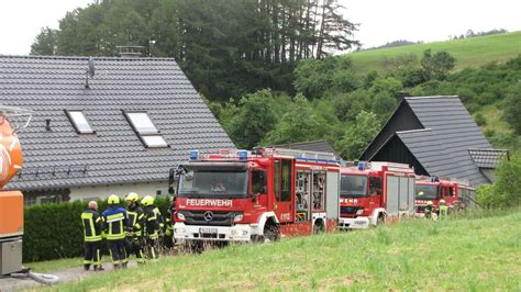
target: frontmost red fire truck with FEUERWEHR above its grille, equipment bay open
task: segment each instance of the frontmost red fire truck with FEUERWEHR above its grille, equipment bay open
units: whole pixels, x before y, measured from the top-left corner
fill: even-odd
[[[266,242],[336,226],[340,164],[333,154],[191,151],[179,169],[174,234],[185,243]]]

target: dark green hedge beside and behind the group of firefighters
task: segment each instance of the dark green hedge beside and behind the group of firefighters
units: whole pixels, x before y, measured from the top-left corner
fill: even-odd
[[[107,209],[107,201],[98,204],[100,212]],[[166,214],[169,199],[158,198],[156,205],[162,214]],[[79,201],[25,207],[23,262],[81,257],[84,231],[80,215],[86,209],[87,202]],[[103,246],[107,251],[107,245]]]

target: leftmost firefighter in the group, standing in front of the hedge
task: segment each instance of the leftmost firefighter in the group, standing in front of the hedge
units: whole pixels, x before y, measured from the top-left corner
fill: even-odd
[[[89,207],[81,213],[84,225],[85,260],[84,269],[88,271],[90,265],[95,271],[102,271],[101,267],[101,233],[103,231],[103,220],[98,213],[98,203],[89,202]]]

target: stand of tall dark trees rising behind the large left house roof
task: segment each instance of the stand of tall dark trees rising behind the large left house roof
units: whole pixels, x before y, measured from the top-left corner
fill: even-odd
[[[196,89],[226,101],[264,88],[292,93],[298,60],[357,42],[337,0],[110,0],[67,12],[56,52],[118,56],[118,46],[174,57]],[[35,43],[35,46],[37,43]],[[35,50],[36,52],[36,50]]]

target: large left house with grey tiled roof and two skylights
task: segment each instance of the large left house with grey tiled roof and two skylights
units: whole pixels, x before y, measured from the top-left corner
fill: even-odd
[[[171,58],[0,56],[0,104],[33,111],[8,184],[27,204],[165,195],[190,149],[234,148]]]

